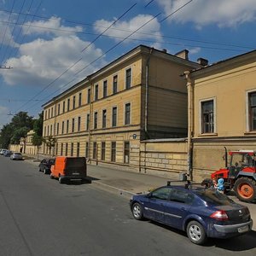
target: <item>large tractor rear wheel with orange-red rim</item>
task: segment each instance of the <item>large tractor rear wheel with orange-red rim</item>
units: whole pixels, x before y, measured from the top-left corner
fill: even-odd
[[[240,201],[252,202],[256,199],[256,182],[249,177],[238,178],[234,190]]]

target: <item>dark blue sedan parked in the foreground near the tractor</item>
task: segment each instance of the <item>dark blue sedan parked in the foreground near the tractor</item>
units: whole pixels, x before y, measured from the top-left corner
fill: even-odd
[[[195,244],[203,244],[207,237],[240,236],[253,227],[248,208],[216,189],[167,185],[147,195],[133,195],[130,207],[134,218],[186,231]]]

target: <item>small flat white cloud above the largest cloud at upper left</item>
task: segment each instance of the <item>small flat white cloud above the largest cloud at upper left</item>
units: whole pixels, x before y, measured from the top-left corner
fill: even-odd
[[[25,34],[54,34],[55,36],[69,35],[74,32],[82,32],[82,26],[62,26],[61,18],[51,17],[49,20],[37,20],[26,22],[23,26]]]

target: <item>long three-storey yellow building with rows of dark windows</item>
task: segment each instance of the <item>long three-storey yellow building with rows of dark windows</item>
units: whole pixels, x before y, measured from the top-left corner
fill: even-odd
[[[141,142],[187,136],[188,51],[140,45],[43,105],[55,155],[140,167]],[[44,154],[52,154],[43,145]]]

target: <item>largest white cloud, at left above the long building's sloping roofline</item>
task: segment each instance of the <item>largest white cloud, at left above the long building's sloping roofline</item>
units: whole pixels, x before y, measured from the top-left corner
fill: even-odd
[[[65,72],[73,63],[83,58],[77,65],[65,73],[57,84],[63,84],[73,79],[75,73],[102,55],[101,49],[92,44],[83,54],[80,50],[90,42],[84,42],[77,36],[57,37],[51,40],[37,39],[20,45],[20,57],[11,58],[7,66],[11,70],[3,70],[3,79],[7,84],[24,84],[31,86],[45,86]],[[85,74],[92,73],[96,67],[89,66]]]

